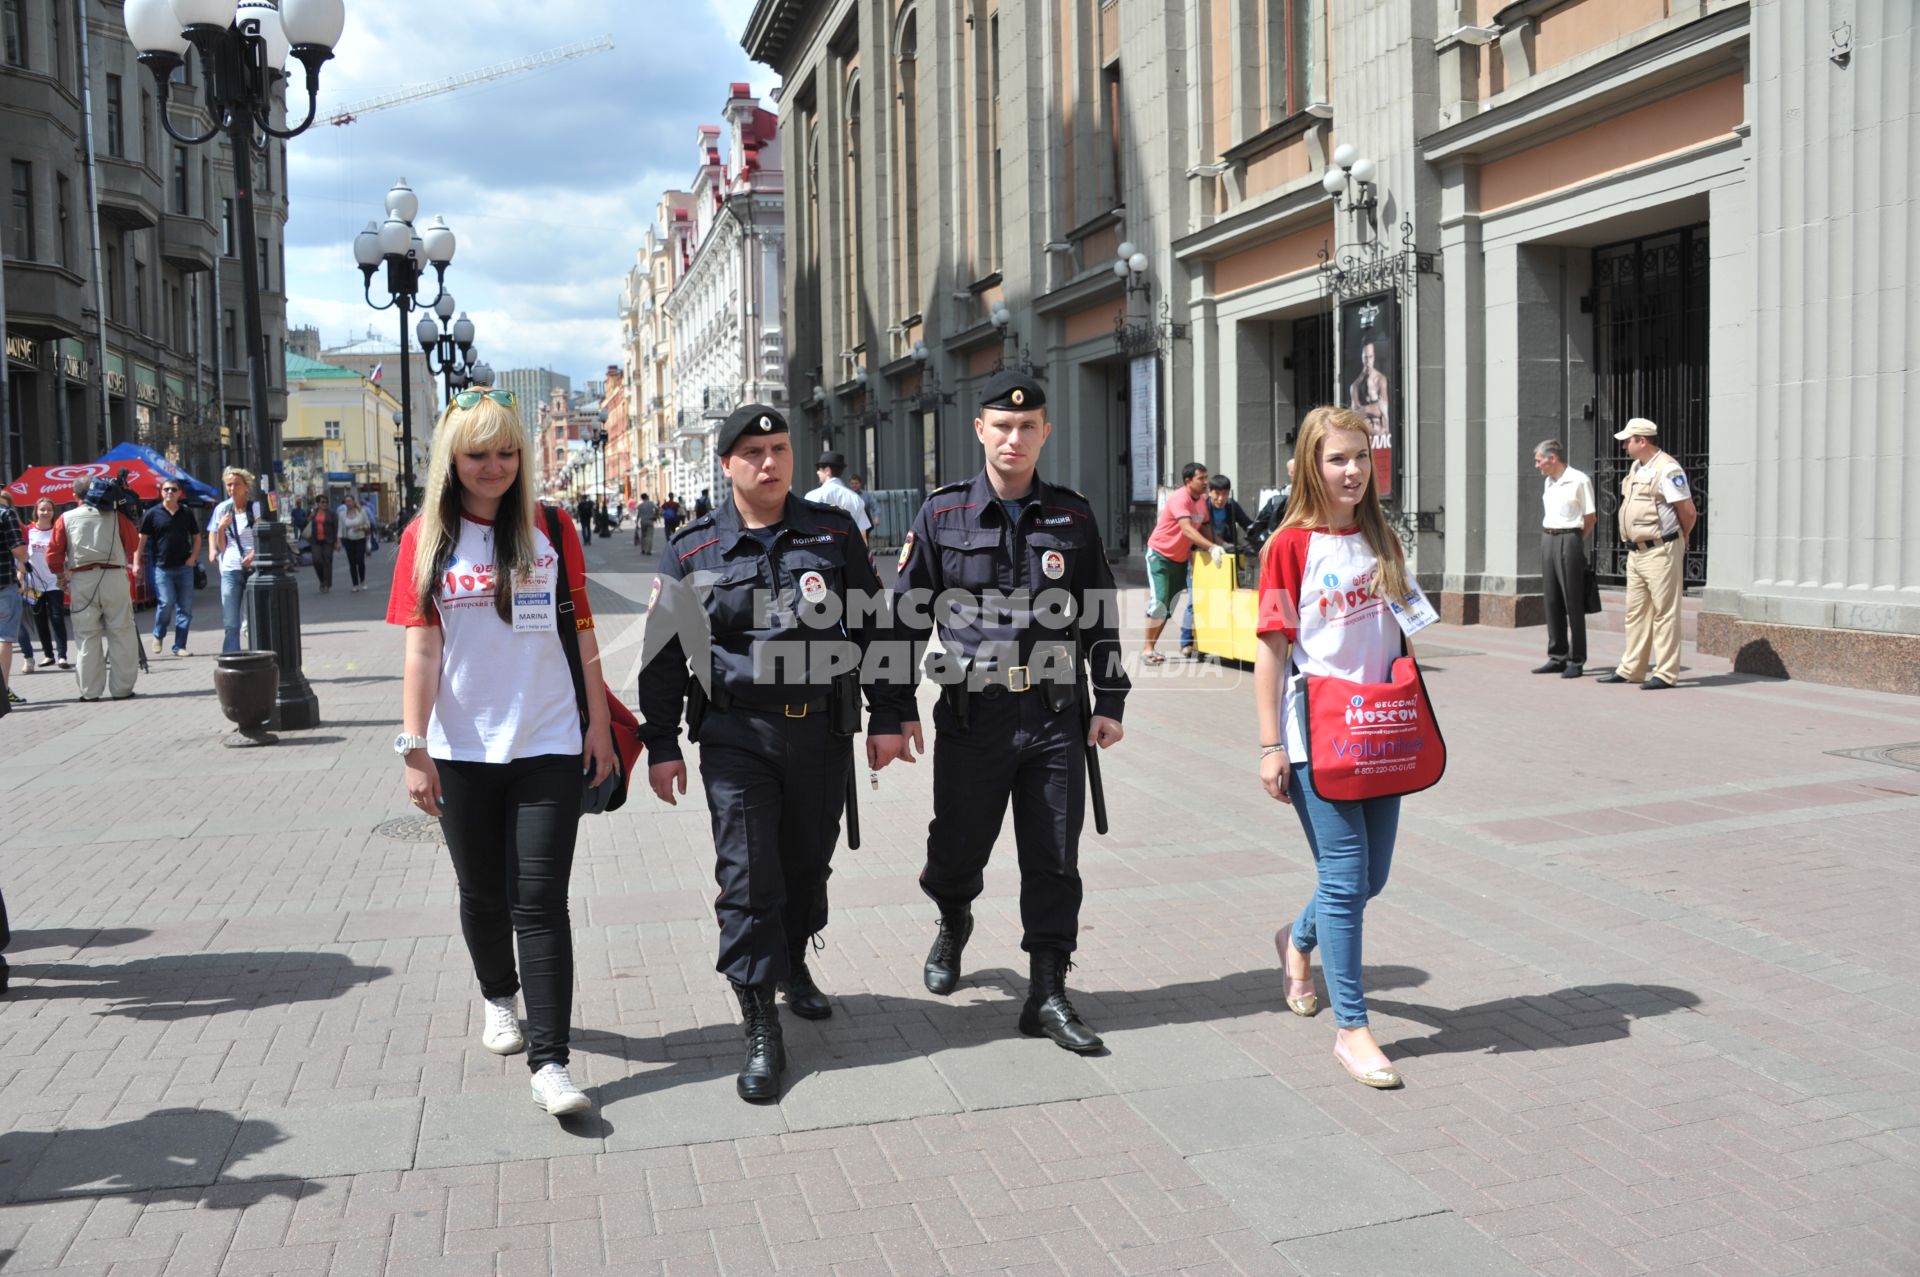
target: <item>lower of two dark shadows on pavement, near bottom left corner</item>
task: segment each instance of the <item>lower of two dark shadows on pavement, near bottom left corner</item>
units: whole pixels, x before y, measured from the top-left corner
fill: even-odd
[[[248,1158],[286,1139],[271,1121],[211,1108],[163,1108],[90,1129],[6,1131],[0,1133],[0,1200],[200,1189],[228,1168],[244,1171]],[[221,1193],[202,1194],[198,1206],[236,1210],[273,1196],[298,1198],[307,1183],[228,1173]]]

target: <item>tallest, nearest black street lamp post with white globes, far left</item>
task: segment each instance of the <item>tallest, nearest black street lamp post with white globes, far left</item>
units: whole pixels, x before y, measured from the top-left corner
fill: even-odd
[[[248,346],[248,411],[253,417],[253,455],[259,465],[261,518],[253,528],[253,574],[248,580],[248,620],[253,649],[271,649],[280,666],[275,720],[282,730],[315,728],[321,701],[301,672],[300,582],[292,542],[278,513],[273,422],[267,419],[267,336],[259,313],[259,261],[253,246],[253,157],[265,138],[294,138],[313,125],[321,67],[334,56],[346,27],[344,0],[127,0],[127,36],[140,65],[154,75],[159,123],[175,142],[202,146],[225,134],[234,159],[234,207],[240,219],[240,309]],[[173,127],[169,86],[188,52],[200,54],[211,127],[186,136]],[[296,129],[273,127],[275,92],[286,75],[286,56],[305,67],[307,115]],[[259,144],[255,136],[265,134]]]

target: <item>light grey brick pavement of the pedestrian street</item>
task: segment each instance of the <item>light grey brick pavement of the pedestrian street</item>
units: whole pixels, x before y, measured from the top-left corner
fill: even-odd
[[[589,563],[632,691],[641,563]],[[1369,914],[1400,1093],[1281,1002],[1311,874],[1244,672],[1144,672],[1108,753],[1073,972],[1098,1058],[1014,1031],[1010,837],[966,983],[922,991],[922,762],[862,785],[833,1018],[787,1022],[778,1108],[737,1102],[707,812],[639,793],[584,826],[599,1108],[563,1127],[474,1043],[442,849],[380,831],[409,814],[390,566],[303,582],[326,722],[273,749],[221,747],[211,593],[131,703],[17,680],[8,1273],[1920,1271],[1920,770],[1845,753],[1920,741],[1912,699],[1692,653],[1647,699],[1528,678],[1538,630],[1432,632],[1453,764]]]

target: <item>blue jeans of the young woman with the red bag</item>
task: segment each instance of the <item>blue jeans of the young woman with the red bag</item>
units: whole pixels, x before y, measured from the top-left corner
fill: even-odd
[[[1319,945],[1332,1022],[1352,1029],[1367,1024],[1359,972],[1361,918],[1394,864],[1400,799],[1323,799],[1313,791],[1313,768],[1296,762],[1292,770],[1294,812],[1319,870],[1313,899],[1294,920],[1292,945],[1300,952],[1313,952]]]

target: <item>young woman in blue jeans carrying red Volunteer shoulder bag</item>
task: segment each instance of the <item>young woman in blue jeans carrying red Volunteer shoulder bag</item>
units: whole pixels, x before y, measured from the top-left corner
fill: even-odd
[[[1419,626],[1396,616],[1427,603],[1380,511],[1365,419],[1340,407],[1308,413],[1294,480],[1286,517],[1261,557],[1254,695],[1260,780],[1300,816],[1319,881],[1273,941],[1288,1010],[1319,1010],[1317,947],[1334,1010],[1334,1058],[1356,1081],[1392,1089],[1400,1073],[1367,1027],[1361,922],[1394,860],[1400,795],[1425,789],[1444,766],[1402,632]]]

